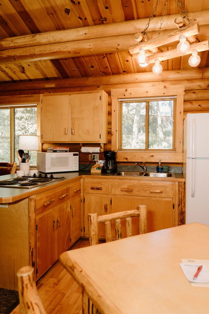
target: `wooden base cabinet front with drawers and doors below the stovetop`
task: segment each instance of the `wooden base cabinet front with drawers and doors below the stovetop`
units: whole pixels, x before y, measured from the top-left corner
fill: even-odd
[[[77,180],[35,196],[36,279],[81,237],[81,183]]]

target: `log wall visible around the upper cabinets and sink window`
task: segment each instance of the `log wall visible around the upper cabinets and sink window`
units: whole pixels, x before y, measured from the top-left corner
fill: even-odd
[[[201,72],[202,71],[202,72]],[[168,72],[168,71],[167,71]],[[108,143],[104,145],[105,150],[111,150],[111,123],[112,123],[112,102],[111,102],[111,89],[116,88],[130,88],[130,87],[144,87],[146,86],[148,89],[150,86],[165,86],[165,85],[176,85],[176,84],[185,84],[185,95],[184,95],[184,118],[187,113],[197,113],[197,112],[209,112],[209,68],[204,69],[193,69],[192,75],[191,70],[182,71],[182,79],[179,79],[180,73],[179,71],[169,71],[173,73],[173,75],[170,75],[170,78],[172,80],[168,80],[168,76],[166,73],[164,76],[160,77],[158,76],[156,80],[158,81],[149,81],[149,76],[144,77],[144,82],[140,83],[129,83],[129,81],[134,82],[138,81],[138,74],[125,74],[125,75],[117,75],[112,76],[112,80],[115,84],[109,84],[110,83],[110,77],[107,77],[107,84],[105,83],[105,77],[98,78],[98,83],[103,83],[101,85],[96,85],[97,78],[91,78],[89,81],[86,80],[86,84],[90,83],[91,85],[85,85],[85,86],[76,86],[75,87],[65,87],[61,88],[60,86],[55,89],[50,88],[42,88],[41,90],[34,89],[30,91],[11,91],[8,92],[9,95],[5,95],[3,93],[0,93],[0,104],[5,103],[14,103],[15,98],[17,99],[17,103],[21,102],[21,97],[25,100],[25,95],[27,95],[27,92],[30,92],[30,94],[52,94],[52,93],[76,93],[76,91],[87,91],[87,90],[98,90],[103,89],[108,95]],[[181,72],[181,71],[180,71]],[[188,76],[186,76],[186,73]],[[201,75],[202,73],[202,75]],[[147,73],[146,73],[147,74]],[[163,74],[163,73],[162,73]],[[121,81],[123,84],[119,83],[119,77],[121,77]],[[153,75],[150,74],[150,77],[153,78]],[[159,78],[164,78],[164,81],[159,81]],[[75,81],[74,81],[75,82]],[[83,82],[83,80],[82,80]],[[94,84],[94,85],[93,85]],[[66,85],[65,85],[66,86]],[[13,97],[11,98],[11,95]],[[22,96],[21,96],[22,95]],[[28,95],[28,99],[31,95]],[[49,143],[50,144],[50,143]],[[59,143],[57,143],[59,144]],[[49,145],[51,146],[51,145]],[[66,144],[65,144],[66,146]],[[71,151],[80,151],[80,143],[78,144],[69,144]],[[90,144],[86,144],[86,146],[90,146]],[[91,146],[97,146],[96,144],[92,144]],[[42,150],[45,151],[47,149],[48,145],[43,144]],[[100,154],[100,159],[103,159],[103,154]],[[87,163],[89,160],[89,156],[86,153],[80,154],[80,161]],[[140,160],[138,160],[140,162]]]

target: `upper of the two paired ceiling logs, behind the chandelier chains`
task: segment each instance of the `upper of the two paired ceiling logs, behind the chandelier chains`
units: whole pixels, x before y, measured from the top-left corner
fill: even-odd
[[[187,12],[187,14],[192,24],[194,23],[198,23],[199,25],[209,24],[208,18],[209,10]],[[179,14],[164,16],[163,30],[175,29],[176,25],[174,21],[178,17]],[[149,31],[155,31],[159,29],[161,18],[162,18],[161,16],[158,16],[152,19],[152,23],[150,23],[149,25]],[[147,24],[147,21],[148,19],[146,18],[118,23],[87,26],[72,30],[58,30],[41,34],[9,37],[0,41],[0,50],[47,45],[92,38],[103,38],[104,35],[107,37],[133,34],[138,31],[140,32],[141,30],[144,30],[144,26]]]

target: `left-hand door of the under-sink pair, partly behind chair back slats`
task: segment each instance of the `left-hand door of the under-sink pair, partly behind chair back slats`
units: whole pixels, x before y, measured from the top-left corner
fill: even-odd
[[[137,206],[141,205],[140,198],[125,197],[125,196],[113,196],[112,197],[112,213],[122,212],[123,210],[137,209]],[[132,218],[133,236],[138,235],[138,217]],[[125,219],[121,220],[121,233],[122,238],[126,237],[126,223]],[[112,222],[112,237],[116,238],[115,224]]]

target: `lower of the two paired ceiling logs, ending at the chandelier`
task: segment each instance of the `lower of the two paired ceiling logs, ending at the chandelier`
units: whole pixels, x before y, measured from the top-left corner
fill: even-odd
[[[128,51],[135,43],[134,34],[70,41],[0,51],[0,64],[63,59]]]

